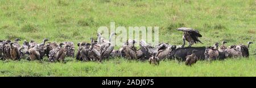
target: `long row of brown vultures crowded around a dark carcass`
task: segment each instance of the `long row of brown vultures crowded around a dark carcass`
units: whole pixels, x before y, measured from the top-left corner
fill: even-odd
[[[101,62],[110,57],[123,57],[131,60],[148,60],[150,64],[159,65],[160,60],[176,59],[185,61],[185,65],[192,65],[197,60],[223,60],[226,58],[249,57],[249,46],[253,42],[248,42],[247,45],[232,45],[225,46],[225,41],[214,43],[209,47],[191,47],[195,43],[202,43],[199,37],[202,37],[198,30],[192,28],[178,28],[183,31],[183,45],[175,46],[168,43],[160,43],[157,46],[151,46],[145,41],[139,41],[139,49],[135,47],[137,41],[128,39],[123,43],[122,47],[114,50],[111,40],[115,33],[110,34],[109,40],[97,34],[97,39],[91,38],[91,42],[77,43],[79,46],[76,54],[76,59],[81,61],[98,61]],[[20,39],[0,41],[0,58],[2,60],[11,59],[19,60],[25,58],[27,60],[42,60],[44,56],[48,57],[51,62],[64,61],[65,56],[75,58],[75,45],[73,42],[47,42],[49,39],[43,39],[42,43],[35,41],[24,41],[20,46]],[[185,46],[185,41],[188,41],[189,46]],[[46,43],[47,42],[47,43]]]

